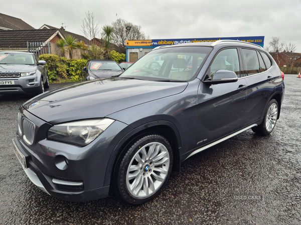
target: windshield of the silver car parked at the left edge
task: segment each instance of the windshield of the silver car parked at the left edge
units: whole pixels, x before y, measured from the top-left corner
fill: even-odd
[[[0,64],[34,65],[32,54],[24,53],[0,53]]]

